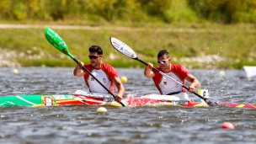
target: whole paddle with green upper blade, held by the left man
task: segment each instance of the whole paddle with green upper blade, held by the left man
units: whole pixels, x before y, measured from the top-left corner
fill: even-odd
[[[55,31],[53,31],[50,28],[46,28],[45,29],[45,38],[46,38],[46,40],[48,40],[50,42],[51,45],[56,47],[57,50],[61,51],[65,55],[71,57],[74,61],[76,61],[78,63],[77,59],[75,59],[75,57],[72,56],[72,54],[69,52],[68,47],[67,47],[66,43],[64,42],[64,40],[62,40],[61,36],[57,35],[57,33]],[[91,72],[88,71],[88,69],[83,67],[83,70],[88,72],[88,74],[90,74],[103,88],[105,88],[115,98],[115,95],[113,93],[111,93],[109,91],[109,89],[106,88],[102,83],[100,83],[99,80],[96,77],[94,77]],[[122,104],[122,106],[125,107],[125,104],[123,104],[122,102],[120,102],[120,104]]]

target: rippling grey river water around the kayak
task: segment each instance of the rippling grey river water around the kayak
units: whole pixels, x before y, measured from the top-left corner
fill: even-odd
[[[88,91],[82,77],[73,77],[72,68],[0,68],[0,96],[13,94],[64,94],[77,89]],[[143,69],[117,69],[125,76],[125,94],[141,96],[158,93]],[[191,70],[211,99],[221,102],[256,104],[256,80],[240,79],[238,71]],[[190,99],[198,99],[193,93]],[[0,143],[255,143],[255,109],[230,107],[143,106],[105,107],[2,107]],[[235,130],[221,129],[223,122]]]

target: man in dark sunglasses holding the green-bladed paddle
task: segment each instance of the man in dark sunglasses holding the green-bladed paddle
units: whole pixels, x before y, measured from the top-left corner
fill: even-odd
[[[88,51],[90,63],[84,65],[83,61],[78,61],[77,67],[73,71],[74,76],[83,76],[84,81],[91,93],[108,93],[108,91],[103,88],[92,76],[90,76],[88,72],[83,70],[83,67],[85,67],[93,74],[94,77],[99,80],[99,82],[101,82],[106,88],[109,88],[111,93],[114,93],[116,85],[118,92],[116,94],[115,101],[120,102],[123,94],[125,93],[125,88],[115,68],[102,61],[103,50],[99,45],[92,45]]]

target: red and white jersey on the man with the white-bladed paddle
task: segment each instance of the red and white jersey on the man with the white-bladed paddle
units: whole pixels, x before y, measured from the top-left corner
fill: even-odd
[[[161,71],[159,67],[157,67],[157,69]],[[190,73],[186,67],[172,64],[171,71],[164,72],[169,77],[173,77],[173,79],[177,80],[179,83],[174,82],[173,79],[171,78],[163,76],[159,72],[156,72],[154,70],[153,72],[155,73],[155,76],[152,78],[157,89],[161,94],[168,94],[180,91],[185,92],[185,89],[182,88],[182,86],[179,83],[185,84],[185,77],[187,77]]]

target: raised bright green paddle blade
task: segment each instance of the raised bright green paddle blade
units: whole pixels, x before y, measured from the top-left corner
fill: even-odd
[[[61,39],[61,36],[57,35],[55,31],[53,31],[50,28],[45,29],[45,38],[50,42],[51,45],[56,47],[59,51],[61,51],[63,54],[70,56],[72,59],[74,59],[74,56],[72,56],[69,53],[68,47],[64,40]]]

